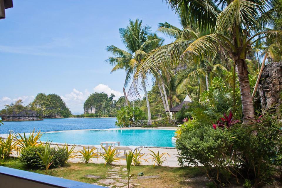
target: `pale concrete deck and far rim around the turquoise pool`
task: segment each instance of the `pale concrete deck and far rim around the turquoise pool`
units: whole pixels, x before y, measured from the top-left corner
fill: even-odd
[[[116,128],[112,128],[112,129],[86,129],[86,130],[115,130]],[[118,128],[120,129],[120,128]],[[177,127],[150,127],[150,128],[143,128],[143,127],[125,127],[122,128],[122,130],[128,130],[128,129],[144,129],[144,130],[177,130]],[[62,130],[62,131],[77,131],[77,130]],[[61,131],[50,131],[50,132],[61,132]],[[46,132],[46,133],[50,133],[50,132]],[[44,132],[45,133],[45,132]],[[29,133],[26,133],[26,135],[28,135]],[[6,138],[7,134],[1,134],[0,137]],[[107,140],[108,141],[108,140]],[[44,142],[43,142],[44,143]],[[62,147],[61,145],[64,145],[64,143],[56,143],[53,142],[52,143],[52,147],[57,147],[57,145],[59,147]],[[76,144],[77,146],[75,147],[75,151],[79,151],[81,149],[83,149],[83,147],[86,147],[88,145],[80,145],[79,143]],[[71,145],[70,145],[71,146]],[[89,145],[91,146],[91,145]],[[163,166],[168,166],[168,167],[179,167],[178,162],[176,160],[176,154],[177,154],[177,150],[173,147],[150,147],[150,146],[145,146],[145,155],[142,156],[142,158],[146,159],[148,162],[144,162],[144,160],[142,160],[141,165],[152,165],[152,159],[150,158],[150,155],[148,155],[149,153],[151,153],[149,150],[152,150],[153,152],[160,152],[161,153],[167,153],[167,161],[164,162]],[[96,152],[96,150],[95,150]],[[16,153],[14,153],[15,157],[18,157]],[[123,151],[122,153],[120,153],[120,155],[118,156],[120,159],[120,162],[114,162],[113,164],[117,164],[117,165],[126,165],[126,161],[125,161],[125,155],[123,155]],[[105,163],[105,161],[98,157],[98,158],[92,158],[92,163]],[[69,160],[69,162],[73,162],[73,163],[77,163],[79,162],[80,159],[79,158],[75,158],[75,159],[71,159]]]

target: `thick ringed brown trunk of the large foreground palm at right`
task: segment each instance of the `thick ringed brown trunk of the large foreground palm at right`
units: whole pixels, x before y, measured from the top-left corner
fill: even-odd
[[[243,123],[248,122],[249,118],[254,118],[254,105],[251,96],[251,87],[248,77],[247,64],[245,59],[236,59],[237,73],[239,78],[239,87],[241,93],[242,110],[244,114]]]

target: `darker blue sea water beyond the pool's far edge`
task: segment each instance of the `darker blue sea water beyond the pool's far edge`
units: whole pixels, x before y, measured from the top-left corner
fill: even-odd
[[[33,129],[43,132],[57,130],[78,130],[78,129],[109,129],[115,128],[116,118],[63,118],[44,119],[42,121],[13,121],[4,122],[0,127],[0,134],[9,130],[16,133],[31,132]]]

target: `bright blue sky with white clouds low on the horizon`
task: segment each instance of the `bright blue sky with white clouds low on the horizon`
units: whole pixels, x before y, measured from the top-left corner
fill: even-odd
[[[83,113],[84,101],[94,92],[114,93],[117,99],[123,95],[125,72],[110,73],[105,60],[112,55],[105,47],[125,49],[118,28],[135,18],[152,31],[165,21],[181,28],[162,0],[13,3],[0,20],[0,109],[18,99],[27,105],[38,93],[60,95],[72,113]]]

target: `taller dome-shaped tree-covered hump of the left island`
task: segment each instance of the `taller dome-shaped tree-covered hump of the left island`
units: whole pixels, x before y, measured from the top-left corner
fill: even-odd
[[[42,117],[70,117],[70,110],[59,95],[39,93],[36,95],[31,108],[42,114]]]

